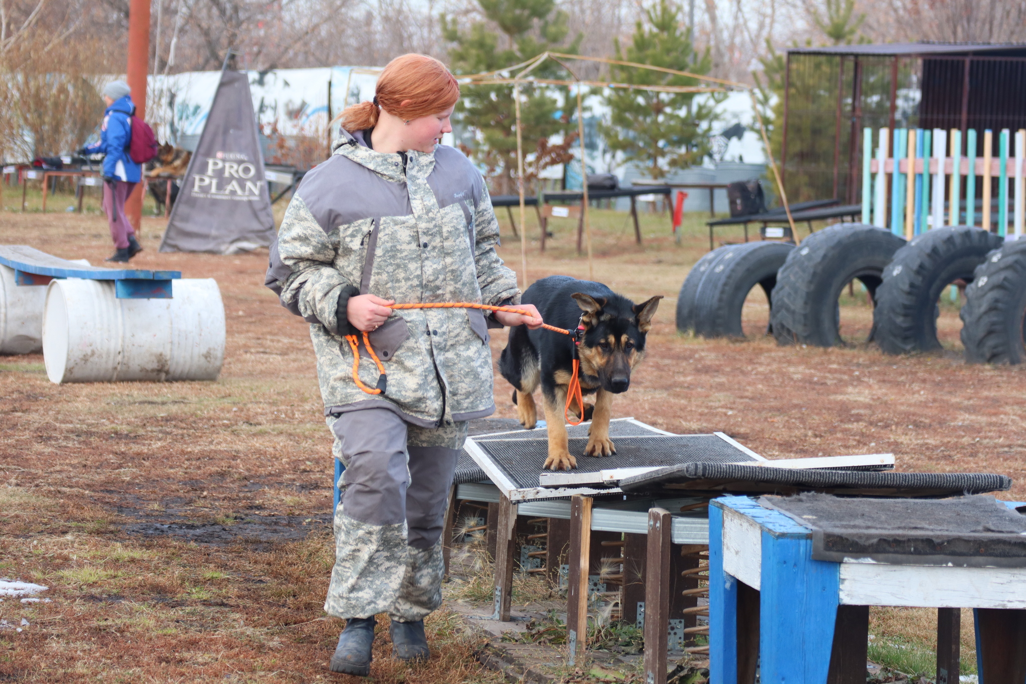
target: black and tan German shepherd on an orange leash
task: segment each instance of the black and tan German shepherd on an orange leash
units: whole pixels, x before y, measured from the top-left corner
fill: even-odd
[[[608,456],[617,451],[609,440],[613,395],[627,392],[630,387],[631,370],[644,357],[645,334],[662,298],[660,294],[636,305],[601,283],[567,276],[543,278],[523,293],[521,301],[538,307],[549,325],[570,331],[579,324],[584,326],[577,348],[578,375],[582,394],[595,394],[594,405],[587,405],[584,416],[579,415],[592,420],[585,455]],[[563,419],[573,377],[574,347],[571,335],[544,328],[528,330],[521,325],[512,328],[499,358],[500,372],[513,386],[513,403],[520,425],[527,430],[538,421],[532,393],[542,386],[549,430],[545,468],[554,471],[577,468],[577,458],[567,448]],[[578,407],[571,409],[577,411]]]

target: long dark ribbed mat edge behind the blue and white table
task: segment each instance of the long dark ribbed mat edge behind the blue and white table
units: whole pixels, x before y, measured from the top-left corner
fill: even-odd
[[[1004,491],[1011,487],[1011,478],[986,473],[866,473],[712,462],[681,464],[620,481],[620,488],[629,492],[681,489],[794,493],[825,490],[877,496],[934,497]]]

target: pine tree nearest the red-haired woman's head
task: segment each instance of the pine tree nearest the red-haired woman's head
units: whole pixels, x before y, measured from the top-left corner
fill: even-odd
[[[442,16],[450,67],[457,74],[477,74],[510,67],[546,50],[576,52],[579,36],[566,44],[567,16],[555,9],[554,0],[478,0],[484,15],[502,31],[489,31],[484,23],[461,30],[457,22]],[[547,61],[531,76],[565,79],[558,63]],[[576,104],[569,94],[552,86],[520,87],[520,122],[524,153],[525,191],[545,168],[573,159],[568,150],[576,139],[576,125],[568,112]],[[462,88],[460,120],[478,131],[476,143],[465,149],[487,169],[492,192],[516,191],[516,114],[512,85],[473,85]],[[551,138],[561,136],[559,144]]]

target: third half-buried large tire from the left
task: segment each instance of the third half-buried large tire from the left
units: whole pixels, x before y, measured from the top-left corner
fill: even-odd
[[[895,252],[883,270],[873,310],[873,339],[887,354],[931,352],[937,339],[937,300],[944,288],[973,272],[1002,239],[972,226],[936,228]]]

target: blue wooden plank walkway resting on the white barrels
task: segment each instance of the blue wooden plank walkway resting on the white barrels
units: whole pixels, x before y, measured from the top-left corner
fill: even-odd
[[[0,245],[0,264],[14,270],[17,285],[46,285],[54,278],[113,280],[119,299],[170,299],[171,281],[182,277],[181,271],[86,266],[25,245]]]

